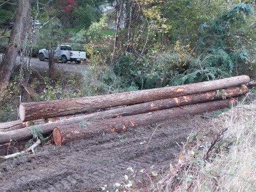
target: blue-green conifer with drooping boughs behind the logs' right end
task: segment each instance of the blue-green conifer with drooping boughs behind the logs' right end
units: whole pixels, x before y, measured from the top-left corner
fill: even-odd
[[[196,50],[197,59],[173,82],[184,84],[225,78],[233,74],[237,65],[248,62],[249,52],[245,48],[248,42],[241,46],[240,39],[246,34],[251,15],[251,6],[240,3],[204,23]]]

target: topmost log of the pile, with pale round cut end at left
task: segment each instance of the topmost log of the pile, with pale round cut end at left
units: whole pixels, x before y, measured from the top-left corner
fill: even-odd
[[[21,103],[19,107],[19,114],[22,121],[65,116],[66,114],[81,113],[88,110],[131,105],[159,99],[175,98],[194,93],[213,91],[241,84],[247,84],[249,81],[249,76],[241,75],[222,80],[174,87],[114,93],[77,99]]]

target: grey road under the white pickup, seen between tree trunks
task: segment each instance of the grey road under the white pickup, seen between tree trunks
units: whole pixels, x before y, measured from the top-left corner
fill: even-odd
[[[2,58],[2,54],[0,54],[0,57]],[[16,59],[16,66],[20,65],[20,56],[17,56]],[[55,63],[56,68],[60,72],[73,72],[78,74],[84,74],[87,70],[86,64],[74,64],[68,62],[67,64],[63,63]],[[48,61],[39,61],[38,58],[32,58],[31,59],[31,66],[36,71],[47,71],[48,70]]]

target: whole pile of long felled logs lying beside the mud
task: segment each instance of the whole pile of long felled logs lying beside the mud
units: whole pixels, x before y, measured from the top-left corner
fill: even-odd
[[[0,124],[0,144],[29,139],[36,128],[43,135],[53,133],[54,143],[64,145],[102,132],[122,132],[186,114],[222,109],[248,91],[249,81],[247,75],[241,75],[182,86],[21,103],[21,121]]]

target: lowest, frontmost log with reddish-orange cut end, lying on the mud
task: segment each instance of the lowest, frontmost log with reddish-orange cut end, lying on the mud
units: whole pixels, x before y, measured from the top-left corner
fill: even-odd
[[[149,113],[136,114],[121,118],[102,120],[100,122],[87,122],[86,124],[66,124],[53,129],[53,141],[56,145],[79,139],[86,139],[100,135],[102,132],[123,132],[128,128],[150,125],[166,121],[186,114],[199,114],[227,107],[234,103],[234,99],[211,101],[201,104],[187,105],[183,108],[175,107]]]

